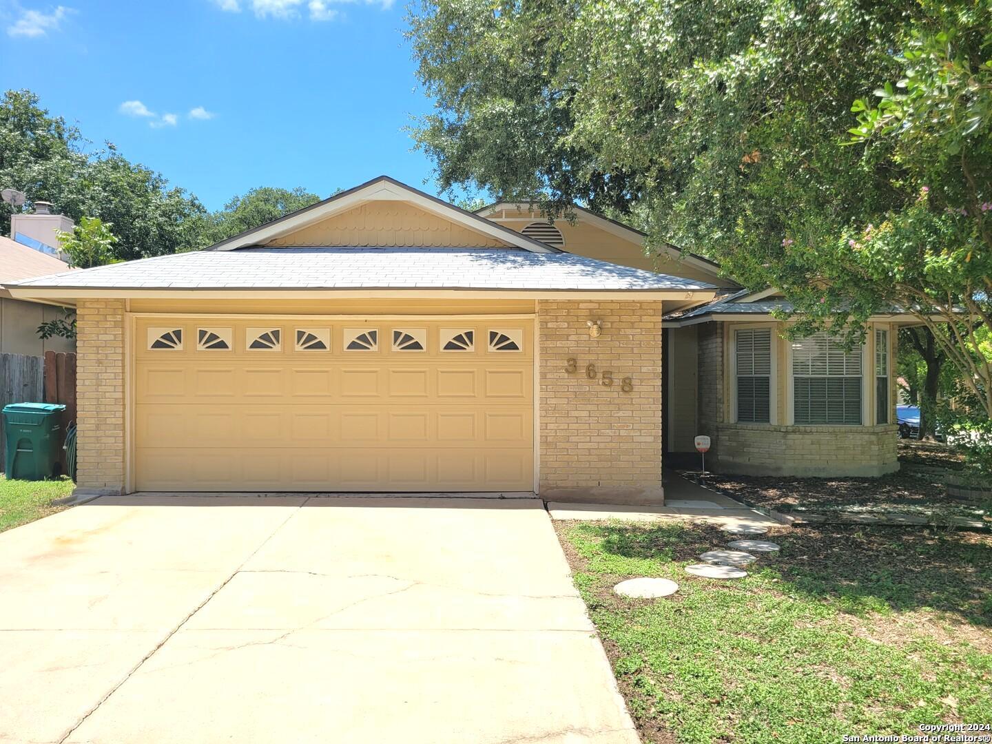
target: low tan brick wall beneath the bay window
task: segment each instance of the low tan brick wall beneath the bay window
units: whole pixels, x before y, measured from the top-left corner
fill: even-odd
[[[893,425],[772,427],[721,424],[718,472],[799,477],[874,477],[899,469]]]

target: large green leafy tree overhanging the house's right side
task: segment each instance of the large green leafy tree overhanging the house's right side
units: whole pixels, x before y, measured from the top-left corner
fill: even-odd
[[[798,333],[898,306],[992,415],[988,0],[423,0],[410,23],[441,186],[633,213],[781,288]]]

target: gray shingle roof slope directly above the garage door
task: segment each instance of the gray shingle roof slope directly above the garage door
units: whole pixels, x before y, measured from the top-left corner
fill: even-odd
[[[568,253],[472,248],[241,248],[40,277],[38,289],[709,290],[713,285]]]

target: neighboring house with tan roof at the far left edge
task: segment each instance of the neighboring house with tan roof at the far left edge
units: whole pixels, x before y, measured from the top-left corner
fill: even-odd
[[[0,354],[42,356],[46,351],[74,351],[75,341],[54,336],[42,339],[38,326],[62,317],[62,309],[48,301],[15,300],[8,285],[68,270],[53,255],[0,237]],[[70,304],[71,305],[71,304]]]

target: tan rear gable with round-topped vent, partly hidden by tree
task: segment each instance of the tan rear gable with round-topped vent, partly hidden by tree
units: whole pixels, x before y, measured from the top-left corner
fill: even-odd
[[[561,233],[561,250],[597,261],[608,261],[620,266],[669,274],[682,279],[706,282],[717,287],[735,288],[731,280],[721,277],[715,265],[681,254],[678,250],[652,256],[644,252],[644,236],[619,223],[599,217],[585,209],[576,208],[576,219],[570,222],[560,218],[555,227]],[[515,204],[497,204],[479,211],[487,219],[523,232],[535,223],[548,225],[548,219],[537,211],[520,208]],[[558,243],[553,243],[558,245]]]

